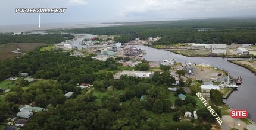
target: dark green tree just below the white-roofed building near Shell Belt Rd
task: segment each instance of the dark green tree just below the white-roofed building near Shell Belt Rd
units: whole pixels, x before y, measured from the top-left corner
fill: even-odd
[[[223,93],[221,93],[217,89],[211,89],[210,90],[210,98],[213,103],[216,105],[221,105],[223,104]]]

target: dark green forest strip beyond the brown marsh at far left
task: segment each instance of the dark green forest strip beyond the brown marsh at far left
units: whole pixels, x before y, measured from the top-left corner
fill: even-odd
[[[61,43],[68,39],[74,38],[70,34],[27,34],[27,35],[9,35],[0,34],[0,44],[7,43],[47,43],[55,44]]]

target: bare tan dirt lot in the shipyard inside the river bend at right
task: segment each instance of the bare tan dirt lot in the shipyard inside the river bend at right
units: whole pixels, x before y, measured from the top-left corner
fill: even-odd
[[[223,72],[221,70],[215,70],[212,67],[193,67],[193,73],[195,73],[195,75],[193,75],[192,77],[197,79],[197,80],[203,80],[204,82],[208,82],[210,81],[210,75],[213,73],[222,73],[223,76]]]

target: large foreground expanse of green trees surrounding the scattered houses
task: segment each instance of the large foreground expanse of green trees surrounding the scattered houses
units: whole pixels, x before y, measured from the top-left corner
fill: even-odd
[[[0,119],[18,112],[17,103],[35,103],[47,111],[35,116],[23,129],[210,129],[215,119],[207,108],[198,108],[193,96],[183,101],[170,98],[168,87],[175,82],[168,69],[152,78],[121,76],[114,80],[113,71],[122,67],[114,58],[107,61],[90,57],[70,57],[61,51],[33,51],[20,58],[0,63],[0,80],[18,73],[50,79],[49,83],[13,88],[6,96],[7,105],[0,106]],[[188,81],[189,82],[189,81]],[[191,81],[185,82],[189,86]],[[82,92],[80,83],[92,83],[94,90]],[[112,91],[108,90],[111,87]],[[71,99],[64,93],[74,92]],[[109,93],[109,95],[95,95]],[[183,93],[183,88],[175,95]],[[145,98],[140,99],[145,95]],[[125,103],[126,102],[126,103]],[[51,104],[51,105],[49,105]],[[175,106],[172,108],[172,106]],[[180,121],[185,111],[198,109],[199,119]],[[221,111],[214,107],[221,116]]]

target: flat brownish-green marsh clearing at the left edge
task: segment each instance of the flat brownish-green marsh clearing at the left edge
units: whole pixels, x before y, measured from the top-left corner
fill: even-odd
[[[30,50],[35,50],[35,48],[47,45],[43,43],[11,43],[11,44],[1,44],[0,45],[0,61],[8,60],[10,58],[15,58],[21,54],[12,53],[11,51],[20,48],[20,52],[26,53]]]

